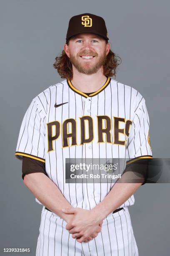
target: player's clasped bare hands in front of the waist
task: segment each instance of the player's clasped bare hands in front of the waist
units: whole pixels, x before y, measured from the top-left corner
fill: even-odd
[[[69,215],[66,229],[79,243],[89,242],[101,231],[103,220],[93,210],[70,207],[62,208],[62,212]]]

